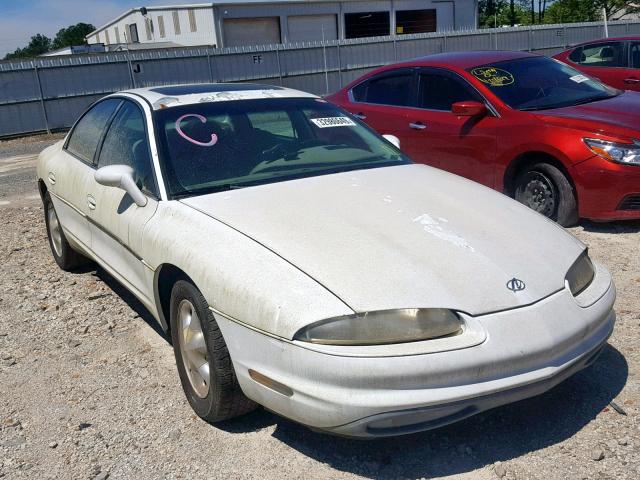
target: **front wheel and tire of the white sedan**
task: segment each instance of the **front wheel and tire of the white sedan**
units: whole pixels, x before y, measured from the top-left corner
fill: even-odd
[[[178,280],[173,286],[170,315],[180,382],[198,416],[215,423],[254,410],[257,405],[240,389],[213,313],[192,283]]]

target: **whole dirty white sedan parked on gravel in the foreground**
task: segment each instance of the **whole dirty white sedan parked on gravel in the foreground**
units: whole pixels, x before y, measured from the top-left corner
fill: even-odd
[[[339,435],[406,434],[591,364],[615,321],[607,270],[394,143],[281,87],[114,94],[40,155],[51,250],[140,299],[210,422],[260,404]]]

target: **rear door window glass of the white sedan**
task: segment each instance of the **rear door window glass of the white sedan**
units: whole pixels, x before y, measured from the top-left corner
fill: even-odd
[[[93,106],[76,124],[69,136],[67,150],[87,163],[93,157],[107,122],[122,100],[110,98]]]

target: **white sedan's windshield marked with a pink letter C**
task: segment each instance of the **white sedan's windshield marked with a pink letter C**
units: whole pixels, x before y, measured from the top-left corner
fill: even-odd
[[[343,110],[317,98],[210,102],[156,112],[172,198],[410,163]]]

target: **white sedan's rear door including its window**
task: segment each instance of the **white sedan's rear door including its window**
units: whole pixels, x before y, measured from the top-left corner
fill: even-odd
[[[97,147],[106,126],[120,104],[106,99],[93,105],[76,122],[59,154],[47,161],[47,188],[60,225],[67,238],[84,250],[90,249],[87,194],[95,171]]]

